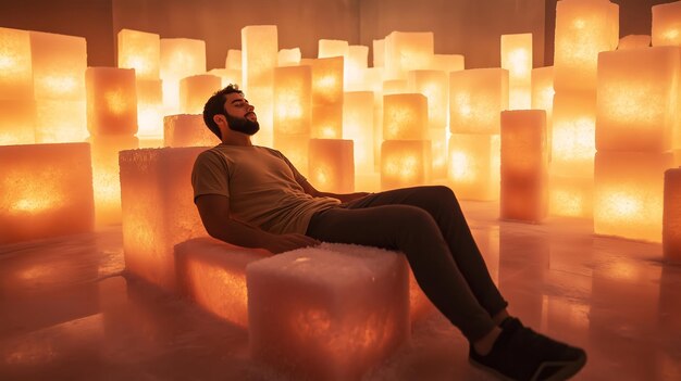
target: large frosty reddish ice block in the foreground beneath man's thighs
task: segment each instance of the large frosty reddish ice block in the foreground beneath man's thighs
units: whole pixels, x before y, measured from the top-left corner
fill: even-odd
[[[246,267],[251,356],[294,379],[359,380],[410,336],[403,255],[322,244]]]

